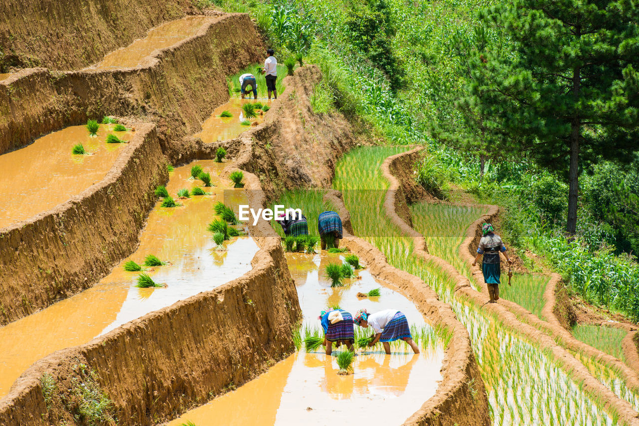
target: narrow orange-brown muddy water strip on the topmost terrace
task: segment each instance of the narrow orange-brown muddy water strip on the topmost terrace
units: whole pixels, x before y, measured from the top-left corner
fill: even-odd
[[[164,49],[180,43],[187,37],[197,34],[197,31],[215,20],[206,16],[187,16],[173,20],[151,29],[145,38],[135,40],[123,49],[107,54],[100,63],[89,68],[109,70],[113,68],[132,68],[141,65],[144,58],[151,56],[153,50]]]

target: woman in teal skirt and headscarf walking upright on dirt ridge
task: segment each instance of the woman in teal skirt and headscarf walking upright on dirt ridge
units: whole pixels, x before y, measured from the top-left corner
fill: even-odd
[[[502,252],[506,258],[506,261],[512,263],[512,260],[508,257],[506,252],[506,246],[500,238],[495,234],[495,229],[491,224],[482,225],[482,238],[479,240],[479,247],[477,247],[477,255],[473,266],[477,264],[479,257],[484,255],[482,262],[482,273],[484,273],[484,282],[488,287],[488,296],[490,297],[489,303],[495,303],[499,300],[499,284],[500,284],[500,257],[499,253]]]

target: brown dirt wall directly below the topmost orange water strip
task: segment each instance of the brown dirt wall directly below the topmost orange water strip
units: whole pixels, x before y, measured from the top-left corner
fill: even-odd
[[[200,130],[229,98],[226,76],[263,60],[264,51],[249,16],[230,13],[135,68],[22,70],[0,82],[0,154],[104,115],[157,122],[166,150],[169,141]]]

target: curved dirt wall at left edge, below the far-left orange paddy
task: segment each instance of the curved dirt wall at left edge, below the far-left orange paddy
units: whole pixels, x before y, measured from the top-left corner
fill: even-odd
[[[137,126],[102,181],[69,201],[0,229],[0,323],[6,324],[104,277],[137,246],[167,179],[154,125]]]

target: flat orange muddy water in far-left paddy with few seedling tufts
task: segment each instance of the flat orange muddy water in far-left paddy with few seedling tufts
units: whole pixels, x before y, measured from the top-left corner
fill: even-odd
[[[107,135],[130,141],[134,134],[112,128],[100,125],[97,137],[91,137],[86,126],[67,127],[0,155],[0,228],[53,208],[101,181],[124,146],[107,144]],[[92,155],[73,155],[78,143]]]

